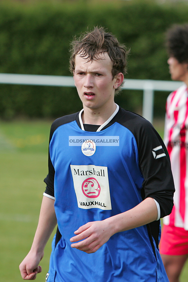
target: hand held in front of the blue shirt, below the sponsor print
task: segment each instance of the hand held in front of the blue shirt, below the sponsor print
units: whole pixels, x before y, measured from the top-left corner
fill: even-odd
[[[113,235],[112,228],[106,220],[93,221],[82,225],[76,230],[74,237],[70,239],[72,248],[84,251],[88,254],[95,253]]]

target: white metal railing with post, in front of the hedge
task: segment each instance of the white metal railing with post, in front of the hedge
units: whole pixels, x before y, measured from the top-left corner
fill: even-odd
[[[72,76],[0,73],[0,83],[75,87]],[[142,115],[153,122],[154,91],[173,91],[183,83],[165,80],[125,79],[123,89],[143,90]]]

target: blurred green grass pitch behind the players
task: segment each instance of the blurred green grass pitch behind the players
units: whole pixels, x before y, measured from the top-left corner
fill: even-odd
[[[47,175],[50,125],[51,121],[0,122],[0,277],[3,282],[23,281],[18,266],[30,249],[38,223],[45,190],[43,179]],[[154,125],[163,135],[163,122]],[[38,282],[45,282],[52,236],[40,264]],[[188,263],[181,276],[181,282],[187,281]]]

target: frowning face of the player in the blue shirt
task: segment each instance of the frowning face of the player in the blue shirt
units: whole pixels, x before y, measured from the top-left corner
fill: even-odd
[[[112,78],[112,60],[107,53],[92,62],[76,55],[75,86],[84,107],[99,109],[114,103],[117,78]]]

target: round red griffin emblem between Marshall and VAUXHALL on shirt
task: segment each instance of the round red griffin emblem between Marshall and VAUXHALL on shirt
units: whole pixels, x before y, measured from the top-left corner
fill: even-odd
[[[88,198],[97,198],[100,194],[99,182],[93,178],[89,177],[82,183],[82,192]]]

